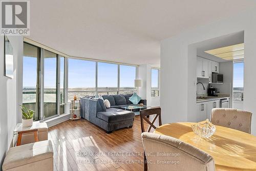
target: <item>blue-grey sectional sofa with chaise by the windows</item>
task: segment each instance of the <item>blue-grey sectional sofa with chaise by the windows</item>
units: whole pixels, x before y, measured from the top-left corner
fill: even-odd
[[[81,117],[101,127],[106,133],[124,127],[131,128],[135,116],[134,112],[121,109],[122,106],[132,105],[129,101],[131,96],[132,94],[102,96],[104,100],[110,101],[111,108],[109,109],[104,109],[101,99],[81,98]],[[146,100],[142,99],[140,103],[146,104]]]

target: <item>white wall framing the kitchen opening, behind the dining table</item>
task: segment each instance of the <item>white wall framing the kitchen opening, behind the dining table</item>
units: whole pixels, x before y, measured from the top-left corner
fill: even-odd
[[[244,110],[256,114],[256,10],[191,29],[161,41],[162,120],[188,121],[196,112],[196,49],[203,40],[244,30]],[[189,111],[189,112],[188,112]],[[188,117],[189,115],[189,117]],[[256,115],[252,116],[252,134],[256,134]]]

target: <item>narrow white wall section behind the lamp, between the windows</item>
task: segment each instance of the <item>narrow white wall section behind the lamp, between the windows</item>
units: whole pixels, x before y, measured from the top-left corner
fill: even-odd
[[[138,79],[142,80],[138,95],[147,100],[147,106],[160,106],[160,97],[151,97],[151,65],[138,67]]]

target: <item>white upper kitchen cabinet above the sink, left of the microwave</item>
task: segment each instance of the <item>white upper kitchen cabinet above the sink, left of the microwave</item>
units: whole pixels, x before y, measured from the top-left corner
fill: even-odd
[[[197,77],[208,78],[208,59],[197,57]]]

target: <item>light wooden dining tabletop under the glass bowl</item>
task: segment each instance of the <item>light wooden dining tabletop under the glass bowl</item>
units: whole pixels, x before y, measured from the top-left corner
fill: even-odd
[[[196,123],[168,123],[157,127],[156,134],[167,135],[191,144],[214,158],[216,170],[256,170],[256,137],[238,130],[216,125],[208,139],[191,129]]]

